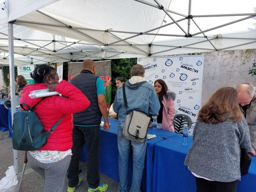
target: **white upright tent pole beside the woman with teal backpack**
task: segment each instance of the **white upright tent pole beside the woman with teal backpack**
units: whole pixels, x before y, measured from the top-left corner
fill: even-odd
[[[14,49],[13,49],[13,23],[8,23],[8,43],[9,43],[9,68],[10,68],[10,88],[11,88],[11,122],[16,108],[14,106],[15,83],[14,83]],[[13,165],[16,174],[18,174],[18,152],[13,150]]]

